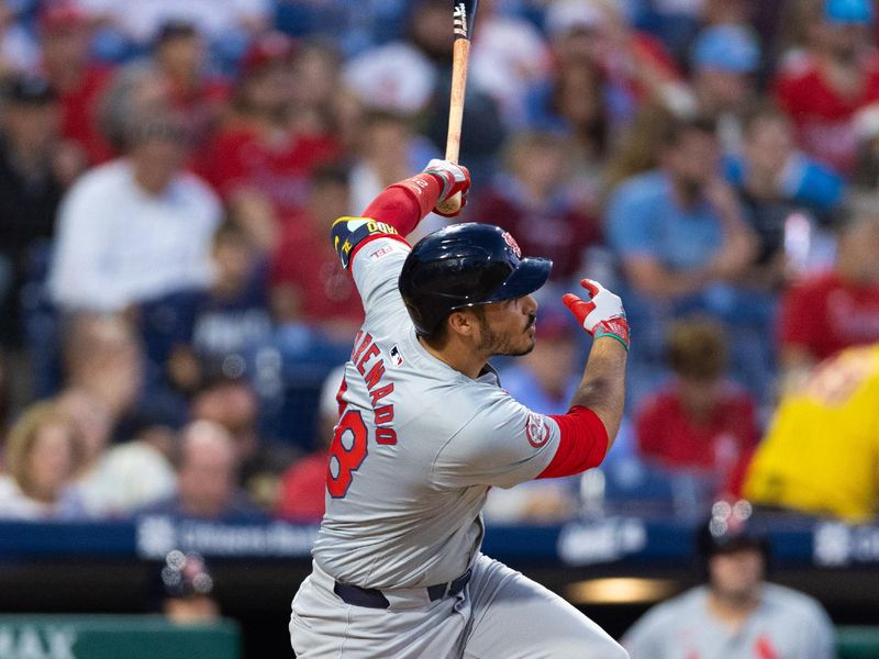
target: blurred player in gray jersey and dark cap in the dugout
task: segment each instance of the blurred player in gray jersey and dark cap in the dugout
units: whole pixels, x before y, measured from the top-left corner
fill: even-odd
[[[708,583],[657,605],[623,636],[632,659],[835,659],[833,623],[813,597],[767,582],[769,546],[750,505],[717,502],[699,529]]]

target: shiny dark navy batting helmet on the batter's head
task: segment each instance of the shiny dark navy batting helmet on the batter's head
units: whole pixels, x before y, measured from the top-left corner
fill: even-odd
[[[400,293],[419,334],[433,334],[452,311],[533,293],[552,267],[546,258],[522,258],[499,226],[455,224],[415,243],[400,272]]]

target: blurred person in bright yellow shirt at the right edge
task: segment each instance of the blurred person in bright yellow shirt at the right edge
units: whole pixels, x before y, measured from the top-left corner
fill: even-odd
[[[879,514],[879,344],[846,348],[781,398],[745,478],[755,504],[871,524]]]

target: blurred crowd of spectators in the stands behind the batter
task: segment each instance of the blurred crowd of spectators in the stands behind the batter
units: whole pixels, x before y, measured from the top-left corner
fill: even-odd
[[[320,517],[363,314],[329,227],[442,157],[449,13],[0,1],[0,516]],[[566,410],[588,339],[558,305],[583,276],[633,336],[605,466],[493,492],[489,518],[742,494],[875,518],[877,30],[870,0],[481,0],[463,219],[555,263],[502,382]],[[816,381],[841,416],[805,423],[833,440],[776,440]]]

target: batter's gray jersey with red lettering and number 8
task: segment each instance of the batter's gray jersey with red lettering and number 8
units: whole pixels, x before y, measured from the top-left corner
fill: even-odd
[[[397,286],[409,250],[374,237],[351,264],[366,320],[345,367],[313,556],[363,588],[459,577],[479,550],[489,488],[535,478],[559,440],[556,422],[493,372],[471,380],[419,343]]]

